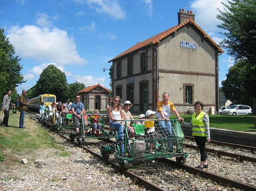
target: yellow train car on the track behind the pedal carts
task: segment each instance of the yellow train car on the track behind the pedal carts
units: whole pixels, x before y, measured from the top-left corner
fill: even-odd
[[[53,94],[41,94],[38,97],[29,99],[28,109],[39,111],[42,102],[45,103],[45,106],[51,105],[53,102],[56,103],[56,96]]]

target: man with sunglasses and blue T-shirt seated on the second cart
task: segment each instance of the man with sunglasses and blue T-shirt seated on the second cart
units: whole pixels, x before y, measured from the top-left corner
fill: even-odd
[[[84,113],[84,104],[80,102],[80,95],[76,95],[76,102],[73,102],[73,104],[71,105],[71,112],[73,113],[72,119],[75,124],[76,135],[81,136],[81,132],[79,131],[79,122],[82,123],[83,118],[80,114]]]

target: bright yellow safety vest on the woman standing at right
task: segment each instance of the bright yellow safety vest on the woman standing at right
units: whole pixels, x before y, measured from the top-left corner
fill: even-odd
[[[194,113],[192,115],[192,136],[201,136],[201,137],[207,137],[206,130],[205,130],[205,124],[203,123],[203,116],[206,115],[205,112],[201,112],[197,118],[197,113]]]

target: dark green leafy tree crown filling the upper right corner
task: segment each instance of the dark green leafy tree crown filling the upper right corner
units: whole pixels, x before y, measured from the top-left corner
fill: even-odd
[[[255,0],[228,0],[222,3],[225,11],[220,11],[217,18],[223,21],[218,28],[226,36],[220,43],[221,47],[228,50],[235,61],[249,59],[256,61],[256,1]]]

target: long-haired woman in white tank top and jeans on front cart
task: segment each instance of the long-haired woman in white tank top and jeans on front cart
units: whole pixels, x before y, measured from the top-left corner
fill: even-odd
[[[124,153],[124,124],[122,121],[114,121],[114,120],[122,120],[124,119],[124,113],[122,112],[122,103],[121,99],[118,95],[116,95],[112,102],[109,105],[109,108],[107,108],[107,112],[109,114],[110,123],[109,126],[112,129],[117,129],[117,144],[121,144],[121,156],[123,156]]]

